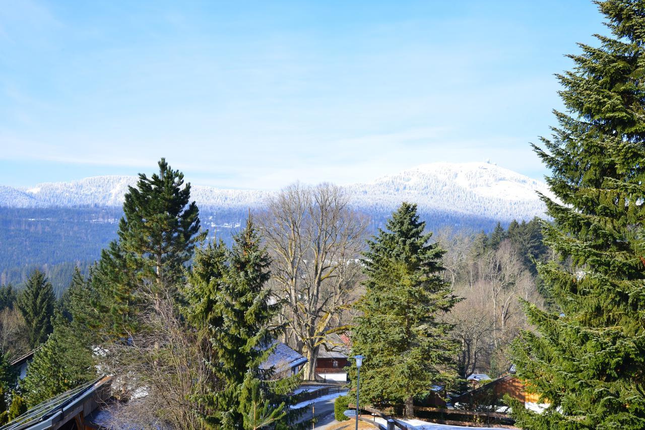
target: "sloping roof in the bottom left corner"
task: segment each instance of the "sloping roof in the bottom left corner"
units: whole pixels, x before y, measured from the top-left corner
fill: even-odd
[[[65,391],[45,402],[39,403],[18,416],[12,422],[0,427],[0,430],[46,430],[63,421],[77,407],[104,384],[109,384],[110,378],[103,377],[88,382],[76,388]]]

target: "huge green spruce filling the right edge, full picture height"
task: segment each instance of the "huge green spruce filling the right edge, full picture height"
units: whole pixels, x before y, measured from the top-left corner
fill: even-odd
[[[645,428],[645,3],[597,2],[611,36],[581,44],[559,75],[568,113],[544,148],[559,201],[542,196],[544,241],[571,264],[539,264],[559,310],[527,304],[537,331],[515,342],[518,375],[550,406],[527,429]],[[569,267],[569,268],[567,268]]]

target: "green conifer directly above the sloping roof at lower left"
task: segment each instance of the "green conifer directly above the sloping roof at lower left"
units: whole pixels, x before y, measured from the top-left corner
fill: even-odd
[[[21,382],[25,400],[34,407],[97,376],[91,347],[58,315],[54,332],[34,354]]]

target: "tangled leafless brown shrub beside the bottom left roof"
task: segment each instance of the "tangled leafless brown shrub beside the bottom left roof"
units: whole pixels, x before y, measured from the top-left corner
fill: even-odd
[[[110,342],[99,353],[102,370],[115,375],[112,387],[123,400],[110,424],[203,429],[195,395],[212,377],[206,366],[212,357],[204,357],[197,333],[186,327],[172,298],[157,290],[148,295],[148,305],[139,313],[146,329],[127,341]]]

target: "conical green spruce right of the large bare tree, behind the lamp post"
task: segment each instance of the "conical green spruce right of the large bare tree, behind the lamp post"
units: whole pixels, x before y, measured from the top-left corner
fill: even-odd
[[[441,279],[444,251],[430,244],[417,206],[403,203],[386,224],[388,231],[368,241],[364,254],[365,295],[356,309],[353,348],[366,358],[361,395],[376,403],[405,402],[413,416],[413,398],[433,384],[451,384],[456,344],[450,326],[438,318],[457,302]]]

